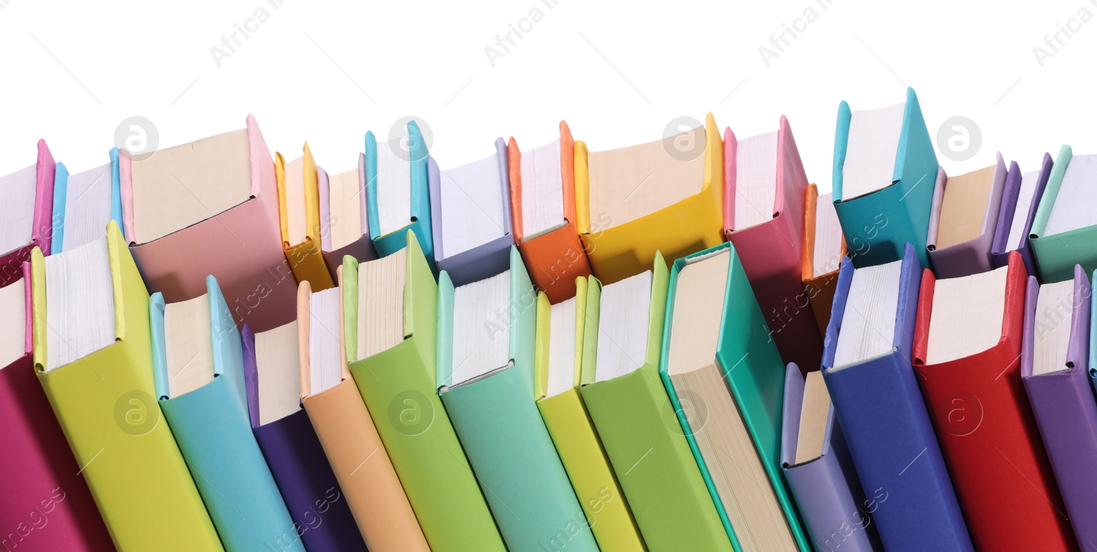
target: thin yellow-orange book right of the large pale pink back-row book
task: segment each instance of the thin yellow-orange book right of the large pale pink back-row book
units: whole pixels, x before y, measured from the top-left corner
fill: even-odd
[[[320,243],[319,171],[308,142],[303,151],[302,157],[289,163],[281,153],[274,153],[282,248],[294,278],[308,280],[319,291],[335,287],[335,280]]]

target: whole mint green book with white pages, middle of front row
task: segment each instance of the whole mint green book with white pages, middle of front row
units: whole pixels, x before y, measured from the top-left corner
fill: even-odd
[[[536,292],[518,249],[510,268],[438,283],[438,394],[512,551],[597,551],[590,522],[534,403]],[[486,330],[486,331],[485,331]]]

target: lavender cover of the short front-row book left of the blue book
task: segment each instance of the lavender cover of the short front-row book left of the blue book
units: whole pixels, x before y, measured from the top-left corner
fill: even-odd
[[[789,363],[784,376],[784,412],[781,416],[781,470],[792,488],[807,534],[816,550],[882,551],[880,534],[868,513],[864,492],[846,448],[841,426],[827,416],[823,456],[794,465],[804,376]]]

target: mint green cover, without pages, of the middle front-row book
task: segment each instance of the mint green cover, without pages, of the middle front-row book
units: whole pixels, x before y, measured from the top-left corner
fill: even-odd
[[[598,551],[534,401],[536,292],[518,250],[510,249],[510,364],[453,387],[454,288],[445,272],[439,279],[439,394],[507,548]]]

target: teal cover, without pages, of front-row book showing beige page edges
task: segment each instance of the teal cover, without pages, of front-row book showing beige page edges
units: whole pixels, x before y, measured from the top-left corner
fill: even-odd
[[[686,439],[689,441],[698,467],[701,469],[705,485],[716,505],[720,519],[724,524],[735,549],[743,550],[732,527],[728,513],[713,483],[711,469],[715,469],[715,467],[710,469],[706,464],[695,437],[698,432],[708,430],[710,427],[703,425],[691,428],[687,413],[689,407],[695,409],[695,405],[682,404],[667,371],[679,273],[690,262],[709,257],[724,250],[730,253],[727,257],[731,265],[727,271],[723,314],[716,344],[716,366],[726,381],[735,406],[738,407],[738,413],[750,435],[755,451],[761,460],[769,484],[784,513],[792,537],[801,551],[811,552],[811,543],[804,534],[803,522],[791,498],[791,492],[780,465],[784,363],[778,354],[777,345],[770,338],[769,326],[766,324],[766,319],[755,299],[746,272],[743,269],[743,263],[730,242],[675,261],[670,269],[659,376],[667,389],[667,394],[670,395],[671,404],[682,426],[682,433],[686,434]],[[695,424],[697,419],[693,423]]]

